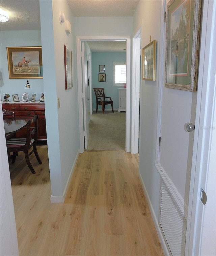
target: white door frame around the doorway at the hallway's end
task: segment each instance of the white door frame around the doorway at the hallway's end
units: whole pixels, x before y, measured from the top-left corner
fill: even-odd
[[[80,153],[84,152],[83,131],[83,104],[82,104],[82,66],[81,66],[81,42],[82,41],[126,41],[126,134],[125,151],[130,152],[130,81],[131,81],[131,38],[130,36],[77,36],[77,82],[78,82],[78,112],[80,127]]]

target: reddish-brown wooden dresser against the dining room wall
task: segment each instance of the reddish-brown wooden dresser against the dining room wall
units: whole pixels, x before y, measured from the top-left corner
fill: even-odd
[[[15,117],[38,115],[38,140],[47,140],[44,102],[18,102],[2,103],[2,109],[15,112]],[[24,129],[24,128],[23,128]],[[17,137],[22,137],[25,130],[17,132]]]

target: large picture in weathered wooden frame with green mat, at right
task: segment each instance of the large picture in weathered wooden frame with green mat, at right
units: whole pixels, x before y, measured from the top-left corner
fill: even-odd
[[[196,91],[201,2],[167,4],[165,87]]]

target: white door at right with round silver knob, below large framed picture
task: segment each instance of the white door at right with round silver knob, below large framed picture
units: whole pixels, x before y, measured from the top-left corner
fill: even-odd
[[[186,130],[186,123],[195,124],[196,104],[197,92],[165,88],[163,83],[156,164],[163,182],[159,223],[173,255],[185,252],[195,133]]]

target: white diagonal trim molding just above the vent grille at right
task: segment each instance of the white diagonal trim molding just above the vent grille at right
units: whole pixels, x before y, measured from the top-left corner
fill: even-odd
[[[174,183],[170,179],[170,177],[167,175],[166,171],[162,167],[160,163],[157,163],[155,165],[156,169],[158,170],[163,182],[165,183],[166,187],[168,188],[170,194],[172,195],[175,203],[179,207],[179,210],[187,220],[188,216],[188,205],[185,203],[184,198],[179,193],[178,189],[175,187]]]

